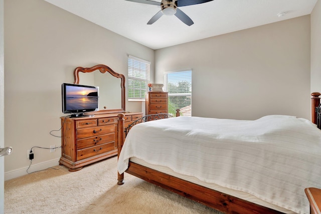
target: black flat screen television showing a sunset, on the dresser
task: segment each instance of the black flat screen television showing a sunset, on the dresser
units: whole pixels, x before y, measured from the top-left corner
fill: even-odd
[[[63,113],[83,117],[86,112],[98,111],[99,87],[63,83],[61,92]]]

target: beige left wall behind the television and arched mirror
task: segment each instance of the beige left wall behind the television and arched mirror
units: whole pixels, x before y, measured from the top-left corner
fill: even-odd
[[[76,67],[104,64],[127,77],[132,55],[150,61],[153,74],[153,50],[42,0],[5,0],[4,31],[5,140],[14,150],[7,179],[13,171],[26,173],[31,147],[61,145],[49,132],[61,126],[61,84],[73,83]],[[126,110],[140,112],[141,103],[126,102]],[[32,166],[57,165],[60,152],[36,148]]]

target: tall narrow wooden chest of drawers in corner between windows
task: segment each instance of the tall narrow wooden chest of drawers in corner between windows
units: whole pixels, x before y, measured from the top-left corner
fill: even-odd
[[[147,114],[168,114],[168,92],[149,91],[145,95]]]

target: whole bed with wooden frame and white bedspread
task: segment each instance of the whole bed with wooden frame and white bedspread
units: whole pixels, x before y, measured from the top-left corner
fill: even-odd
[[[320,94],[311,95],[312,122],[175,117],[135,125],[125,143],[119,114],[118,184],[127,172],[225,213],[309,213],[304,188],[321,187]]]

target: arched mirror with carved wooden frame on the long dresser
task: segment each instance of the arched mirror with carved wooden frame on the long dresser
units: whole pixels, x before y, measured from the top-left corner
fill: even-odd
[[[99,112],[125,111],[125,77],[105,65],[77,67],[74,84],[99,86]]]

